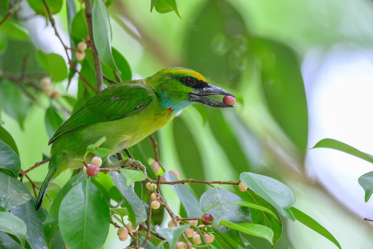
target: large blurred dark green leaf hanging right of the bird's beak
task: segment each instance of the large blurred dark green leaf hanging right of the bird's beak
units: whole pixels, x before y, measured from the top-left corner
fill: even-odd
[[[285,44],[264,38],[250,38],[250,53],[261,66],[263,93],[270,113],[304,154],[308,111],[299,55]]]

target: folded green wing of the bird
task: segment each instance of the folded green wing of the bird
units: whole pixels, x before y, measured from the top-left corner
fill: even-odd
[[[143,84],[112,85],[90,99],[62,123],[48,145],[62,134],[78,128],[134,115],[147,107],[153,97],[153,89]]]

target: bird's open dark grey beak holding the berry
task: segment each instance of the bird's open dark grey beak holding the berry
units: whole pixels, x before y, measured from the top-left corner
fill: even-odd
[[[211,96],[211,95],[223,95],[223,96],[236,97],[229,91],[226,91],[220,87],[216,87],[214,85],[208,85],[207,87],[203,89],[196,89],[195,91],[192,91],[191,93],[189,93],[189,96],[190,96],[189,100],[198,102],[198,103],[203,103],[203,104],[213,106],[213,107],[220,107],[220,108],[233,107],[226,103],[222,103],[222,102],[204,97],[204,96]]]

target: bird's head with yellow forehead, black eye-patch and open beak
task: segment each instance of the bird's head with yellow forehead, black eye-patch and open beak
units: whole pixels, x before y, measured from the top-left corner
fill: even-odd
[[[172,110],[173,113],[194,103],[220,108],[232,107],[232,105],[209,99],[207,96],[235,97],[220,87],[208,84],[201,74],[187,68],[165,68],[147,78],[147,81],[154,88],[161,100],[161,105]]]

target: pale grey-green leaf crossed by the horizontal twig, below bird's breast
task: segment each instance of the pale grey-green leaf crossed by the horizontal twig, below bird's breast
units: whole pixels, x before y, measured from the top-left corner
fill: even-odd
[[[164,172],[166,181],[177,181],[178,179],[169,172]],[[185,208],[186,214],[190,218],[201,217],[203,212],[199,208],[198,200],[194,194],[184,184],[170,185],[176,195],[179,197],[180,202]]]

